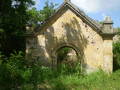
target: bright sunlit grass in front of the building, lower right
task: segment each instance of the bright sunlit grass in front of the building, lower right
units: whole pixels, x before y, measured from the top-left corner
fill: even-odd
[[[119,75],[120,71],[110,76],[102,71],[88,76],[62,75],[51,80],[49,84],[58,90],[117,90],[120,89]]]

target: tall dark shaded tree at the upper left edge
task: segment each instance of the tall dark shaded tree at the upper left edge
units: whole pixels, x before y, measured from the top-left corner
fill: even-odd
[[[0,0],[0,51],[9,55],[14,50],[23,50],[27,9],[32,0]]]

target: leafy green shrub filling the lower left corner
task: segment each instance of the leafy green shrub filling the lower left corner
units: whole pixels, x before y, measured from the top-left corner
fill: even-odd
[[[0,55],[0,88],[17,90],[29,82],[31,69],[27,68],[22,52],[11,54],[9,58]]]

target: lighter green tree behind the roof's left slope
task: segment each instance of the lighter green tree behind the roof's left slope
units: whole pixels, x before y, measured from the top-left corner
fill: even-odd
[[[28,14],[30,16],[28,24],[32,25],[32,27],[35,27],[38,24],[41,25],[41,23],[43,23],[55,12],[56,5],[57,4],[54,4],[53,2],[49,2],[47,0],[42,10],[37,10],[36,8],[28,10]]]

